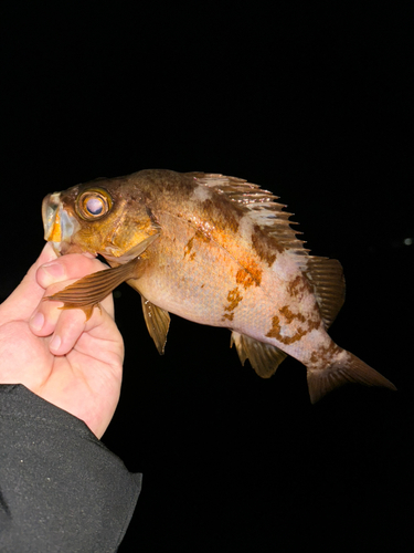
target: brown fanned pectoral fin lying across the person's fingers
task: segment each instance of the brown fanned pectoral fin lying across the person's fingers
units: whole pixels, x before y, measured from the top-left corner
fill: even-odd
[[[116,286],[128,279],[138,276],[139,264],[140,259],[137,258],[124,265],[88,274],[43,300],[63,302],[64,305],[61,307],[63,310],[81,309],[87,321],[91,319],[94,307],[99,306],[99,302],[109,295]]]

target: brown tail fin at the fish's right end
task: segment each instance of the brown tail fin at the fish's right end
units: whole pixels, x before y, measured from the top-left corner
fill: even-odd
[[[308,388],[310,401],[315,404],[332,389],[347,383],[358,383],[364,386],[382,386],[396,389],[395,386],[363,361],[342,349],[339,361],[332,361],[326,368],[308,367]]]

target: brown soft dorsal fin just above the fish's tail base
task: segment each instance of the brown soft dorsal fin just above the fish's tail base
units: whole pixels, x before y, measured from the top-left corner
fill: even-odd
[[[346,283],[341,263],[336,259],[309,255],[306,273],[314,284],[315,296],[326,328],[333,323],[344,302]]]

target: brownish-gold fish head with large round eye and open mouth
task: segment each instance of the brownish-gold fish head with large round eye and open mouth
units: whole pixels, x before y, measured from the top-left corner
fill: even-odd
[[[140,243],[159,233],[144,195],[129,177],[99,178],[49,194],[42,217],[44,238],[59,255],[89,252],[125,262]]]

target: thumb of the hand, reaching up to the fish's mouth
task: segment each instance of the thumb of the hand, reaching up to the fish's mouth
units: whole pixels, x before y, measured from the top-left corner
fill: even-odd
[[[44,289],[36,282],[40,265],[56,259],[52,244],[47,242],[40,257],[29,269],[19,286],[1,304],[1,323],[12,320],[28,320],[44,294]]]

